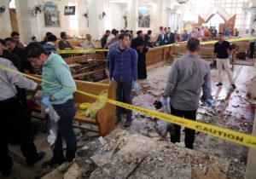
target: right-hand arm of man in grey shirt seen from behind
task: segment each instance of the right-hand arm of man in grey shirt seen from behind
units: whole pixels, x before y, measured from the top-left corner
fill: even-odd
[[[204,77],[204,84],[202,85],[203,95],[201,101],[205,102],[212,98],[211,90],[211,68],[207,65],[207,75]]]

